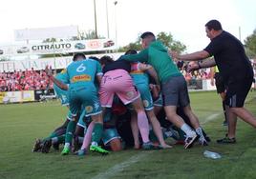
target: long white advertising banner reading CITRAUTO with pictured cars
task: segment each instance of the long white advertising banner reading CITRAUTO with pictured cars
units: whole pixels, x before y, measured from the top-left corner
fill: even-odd
[[[72,53],[78,51],[102,51],[116,49],[111,39],[62,41],[53,43],[29,43],[24,45],[0,46],[1,56]]]

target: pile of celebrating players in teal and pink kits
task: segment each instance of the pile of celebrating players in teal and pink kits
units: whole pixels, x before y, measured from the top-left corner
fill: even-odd
[[[36,139],[33,152],[48,153],[62,145],[62,155],[79,156],[89,151],[171,149],[168,138],[184,149],[208,145],[210,138],[190,108],[186,82],[168,50],[151,32],[140,37],[139,53],[128,50],[117,60],[76,53],[55,76],[46,68],[68,113],[49,136]]]

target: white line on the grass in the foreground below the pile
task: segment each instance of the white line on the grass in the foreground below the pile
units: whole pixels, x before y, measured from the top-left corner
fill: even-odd
[[[153,150],[150,151],[142,151],[139,154],[132,156],[125,162],[115,165],[114,167],[107,169],[105,172],[101,172],[97,174],[93,179],[108,179],[115,176],[118,172],[122,171],[125,168],[130,167],[132,164],[137,163],[141,158],[146,157],[148,154],[152,153]]]

